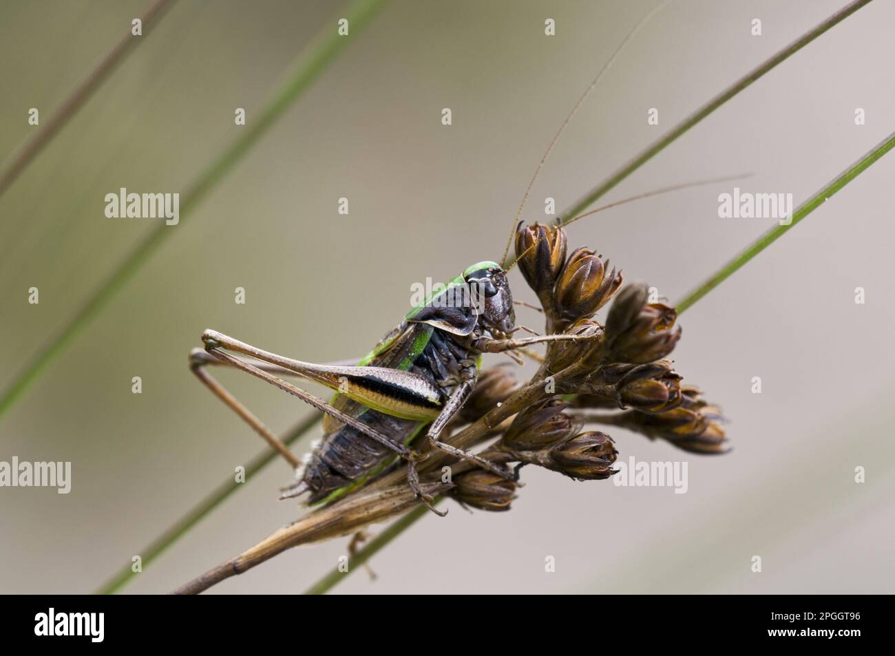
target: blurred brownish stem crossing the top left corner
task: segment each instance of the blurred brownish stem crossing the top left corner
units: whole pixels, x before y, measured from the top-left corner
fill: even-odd
[[[55,112],[49,115],[46,121],[40,125],[34,136],[26,141],[24,146],[19,150],[15,157],[10,160],[9,164],[4,167],[3,173],[0,174],[0,196],[3,196],[15,180],[21,175],[22,171],[36,158],[47,143],[52,141],[53,137],[64,128],[65,124],[72,120],[81,107],[90,99],[97,89],[107,80],[108,76],[115,71],[124,59],[129,55],[133,48],[137,47],[161,20],[168,8],[174,4],[175,0],[156,0],[149,7],[146,13],[141,17],[143,34],[141,37],[134,37],[131,33],[130,24],[128,25],[127,34],[124,35],[113,47],[102,61],[97,64],[90,74],[81,81],[71,95],[65,98],[62,105],[56,107]]]

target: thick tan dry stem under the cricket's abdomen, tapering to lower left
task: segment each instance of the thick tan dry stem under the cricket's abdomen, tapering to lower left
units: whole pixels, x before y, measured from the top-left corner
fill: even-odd
[[[421,487],[425,494],[434,497],[449,490],[452,485],[439,482],[425,483]],[[406,485],[396,485],[387,490],[350,496],[334,506],[309,513],[297,522],[284,526],[266,540],[243,551],[239,556],[230,558],[188,584],[177,588],[174,593],[197,594],[203,592],[226,578],[243,574],[287,549],[356,532],[368,524],[381,522],[401,514],[418,504],[419,500]]]

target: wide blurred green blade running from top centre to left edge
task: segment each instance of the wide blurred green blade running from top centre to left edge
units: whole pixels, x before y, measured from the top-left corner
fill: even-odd
[[[201,173],[183,194],[180,210],[182,222],[190,217],[192,210],[233,169],[243,155],[268,132],[286,109],[302,96],[304,90],[320,77],[320,73],[363,30],[385,2],[386,0],[355,0],[347,12],[340,14],[340,17],[348,19],[351,36],[338,36],[336,21],[329,22],[320,31],[309,47],[304,50],[303,55],[299,55],[297,64],[294,65],[286,81],[261,108],[258,119],[250,125],[246,125],[245,129],[240,131],[240,136]],[[72,345],[81,330],[96,318],[98,313],[115,296],[115,293],[130,281],[142,265],[149,260],[149,257],[174,232],[169,226],[160,224],[137,244],[136,248],[98,287],[98,290],[81,306],[81,309],[75,313],[59,334],[45,345],[13,379],[10,387],[6,388],[3,396],[0,396],[0,417],[37,381],[41,373],[46,371],[47,367],[63,354],[68,346]]]

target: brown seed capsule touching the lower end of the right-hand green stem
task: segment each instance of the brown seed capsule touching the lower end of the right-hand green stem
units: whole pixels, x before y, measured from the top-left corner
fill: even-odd
[[[609,360],[615,362],[652,362],[674,350],[680,328],[674,327],[678,311],[663,303],[647,303],[646,285],[629,285],[609,309],[606,333]]]

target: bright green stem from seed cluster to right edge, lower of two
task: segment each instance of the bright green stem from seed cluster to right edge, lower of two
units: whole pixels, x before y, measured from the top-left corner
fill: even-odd
[[[888,137],[877,144],[874,149],[870,150],[870,152],[863,158],[858,159],[853,165],[848,166],[848,168],[831,183],[814,193],[814,196],[799,205],[792,213],[791,223],[786,226],[773,226],[761,237],[749,244],[746,250],[739,253],[735,258],[721,267],[718,273],[707,278],[702,285],[699,285],[692,292],[687,294],[681,302],[678,302],[678,314],[685,311],[705,294],[708,294],[712,289],[727,280],[735,271],[737,271],[737,269],[741,268],[749,260],[752,260],[758,253],[770,246],[771,243],[780,239],[780,237],[788,232],[789,229],[796,226],[799,221],[811,214],[814,209],[823,205],[823,203],[834,193],[839,192],[842,187],[854,180],[862,171],[873,164],[877,159],[882,158],[882,156],[889,152],[893,147],[895,147],[895,132],[892,132]]]

